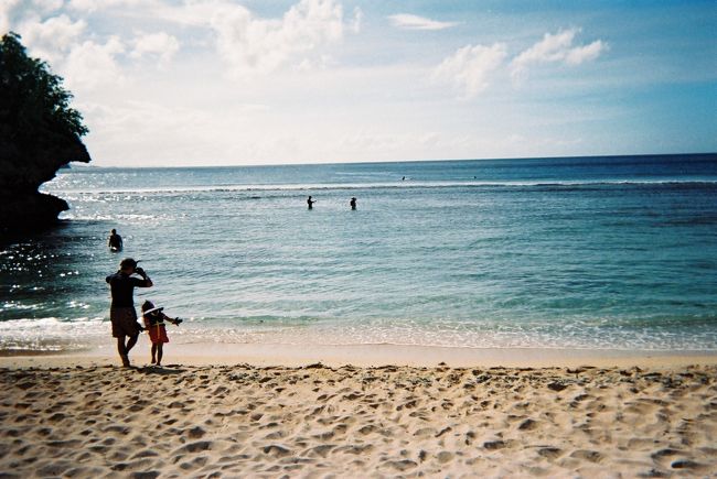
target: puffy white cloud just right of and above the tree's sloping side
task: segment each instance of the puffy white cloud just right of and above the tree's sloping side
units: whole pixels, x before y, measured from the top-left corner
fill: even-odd
[[[69,88],[95,88],[121,81],[124,76],[115,57],[124,52],[125,45],[117,36],[110,36],[105,44],[86,41],[73,47],[63,67]]]

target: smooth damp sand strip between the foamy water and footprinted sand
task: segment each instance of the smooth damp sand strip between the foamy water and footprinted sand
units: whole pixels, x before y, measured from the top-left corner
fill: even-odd
[[[148,366],[149,345],[143,341],[130,352],[132,366]],[[0,352],[0,367],[62,367],[117,364],[115,345],[96,349],[56,351]],[[186,366],[302,367],[321,363],[328,367],[406,366],[436,367],[684,367],[717,364],[717,351],[691,350],[618,350],[618,349],[545,349],[545,348],[465,348],[397,345],[287,345],[287,344],[169,344],[164,363]]]

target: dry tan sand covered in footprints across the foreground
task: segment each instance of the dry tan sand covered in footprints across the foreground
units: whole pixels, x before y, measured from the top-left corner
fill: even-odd
[[[714,364],[24,364],[0,378],[4,477],[717,475]]]

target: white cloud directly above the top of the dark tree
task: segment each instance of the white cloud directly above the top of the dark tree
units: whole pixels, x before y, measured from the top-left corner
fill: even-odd
[[[44,22],[26,21],[19,30],[31,53],[52,63],[60,59],[77,42],[86,26],[84,20],[73,22],[62,14]]]

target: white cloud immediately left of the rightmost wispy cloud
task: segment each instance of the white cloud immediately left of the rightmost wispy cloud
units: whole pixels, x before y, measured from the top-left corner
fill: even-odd
[[[491,75],[507,56],[505,44],[467,45],[446,58],[435,70],[434,79],[451,81],[472,98],[489,86]]]

